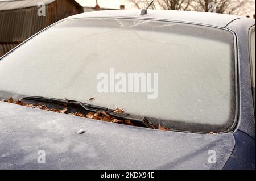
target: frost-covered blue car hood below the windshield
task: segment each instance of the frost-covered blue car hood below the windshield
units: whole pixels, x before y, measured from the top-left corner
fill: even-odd
[[[0,102],[0,169],[222,169],[234,144]]]

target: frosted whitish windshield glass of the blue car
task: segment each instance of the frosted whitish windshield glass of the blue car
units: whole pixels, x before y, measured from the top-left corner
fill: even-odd
[[[2,58],[0,77],[10,95],[94,98],[177,130],[226,131],[236,115],[233,34],[213,27],[64,20]]]

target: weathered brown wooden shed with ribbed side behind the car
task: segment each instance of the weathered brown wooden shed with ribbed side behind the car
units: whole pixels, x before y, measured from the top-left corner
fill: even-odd
[[[45,5],[45,16],[38,10]],[[0,2],[0,57],[36,32],[60,19],[84,12],[75,0],[14,0]]]

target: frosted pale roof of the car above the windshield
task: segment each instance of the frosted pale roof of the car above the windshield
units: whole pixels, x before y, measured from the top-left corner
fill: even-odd
[[[75,18],[136,18],[158,19],[174,22],[186,22],[193,24],[205,24],[208,26],[226,27],[230,22],[243,18],[242,16],[218,14],[210,12],[174,11],[174,10],[148,10],[147,15],[140,15],[141,10],[105,10],[93,11],[70,16]]]

